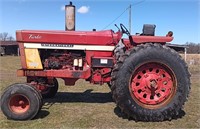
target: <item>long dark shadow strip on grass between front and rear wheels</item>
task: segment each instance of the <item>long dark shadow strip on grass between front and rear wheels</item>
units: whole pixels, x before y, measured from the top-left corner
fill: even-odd
[[[85,92],[58,92],[54,98],[44,99],[43,108],[49,109],[55,103],[109,103],[113,102],[111,93],[92,93],[92,89]]]

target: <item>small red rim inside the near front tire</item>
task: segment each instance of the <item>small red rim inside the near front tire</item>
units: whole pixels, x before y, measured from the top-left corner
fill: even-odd
[[[25,113],[30,108],[29,99],[21,94],[13,95],[9,101],[9,108],[16,114]]]

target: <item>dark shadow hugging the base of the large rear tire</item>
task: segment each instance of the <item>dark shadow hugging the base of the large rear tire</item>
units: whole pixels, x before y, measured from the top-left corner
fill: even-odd
[[[132,120],[132,121],[135,121],[135,122],[157,122],[157,121],[138,120],[138,119],[134,119],[134,118],[128,117],[125,113],[123,113],[123,112],[121,111],[121,109],[120,109],[118,106],[115,107],[114,113],[115,113],[118,117],[121,117],[121,118],[123,118],[123,119]],[[180,111],[179,111],[179,115],[173,116],[171,120],[173,120],[173,119],[176,120],[176,119],[182,118],[183,116],[185,116],[185,111],[180,110]],[[161,121],[170,121],[170,120],[169,120],[169,119],[164,119],[164,120],[161,120]]]

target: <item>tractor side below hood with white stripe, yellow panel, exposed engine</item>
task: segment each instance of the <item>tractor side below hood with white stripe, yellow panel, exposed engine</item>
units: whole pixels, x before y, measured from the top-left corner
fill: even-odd
[[[18,70],[18,76],[62,78],[66,85],[71,85],[70,79],[86,79],[95,84],[110,82],[114,46],[19,42],[19,47],[24,53],[24,66]]]

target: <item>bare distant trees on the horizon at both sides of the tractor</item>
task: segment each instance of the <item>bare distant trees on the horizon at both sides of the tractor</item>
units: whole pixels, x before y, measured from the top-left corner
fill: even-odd
[[[7,32],[0,33],[0,41],[14,41],[14,40],[15,39]],[[200,43],[187,42],[184,45],[188,47],[187,53],[200,54]]]

